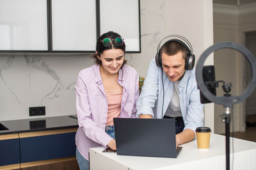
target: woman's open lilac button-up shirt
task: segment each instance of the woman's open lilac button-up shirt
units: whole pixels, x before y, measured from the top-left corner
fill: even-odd
[[[122,72],[123,70],[123,72]],[[120,118],[134,118],[139,97],[139,77],[134,68],[124,65],[118,72],[123,87]],[[88,160],[89,148],[107,146],[113,139],[105,132],[108,100],[100,76],[99,65],[81,70],[76,82],[76,108],[79,128],[77,150]]]

